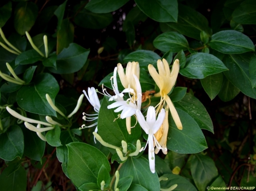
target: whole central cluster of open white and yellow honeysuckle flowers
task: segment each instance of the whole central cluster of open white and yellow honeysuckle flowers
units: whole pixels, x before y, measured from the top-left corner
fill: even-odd
[[[153,65],[150,64],[148,66],[151,77],[154,79],[156,85],[160,89],[160,92],[156,93],[154,96],[161,97],[161,99],[160,102],[155,106],[156,109],[153,106],[149,106],[147,108],[146,120],[141,112],[142,90],[139,81],[140,67],[138,62],[129,62],[127,64],[125,73],[122,65],[120,63],[117,64],[117,67],[114,69],[113,76],[110,79],[112,82],[113,91],[115,93],[114,96],[107,93],[106,89],[103,88],[102,85],[102,94],[107,96],[109,101],[114,101],[114,103],[108,105],[107,108],[116,108],[114,112],[121,112],[119,117],[121,119],[126,119],[128,133],[131,134],[131,128],[135,127],[135,125],[131,126],[131,117],[135,116],[142,129],[148,134],[146,146],[149,145],[149,166],[151,172],[153,173],[155,172],[155,153],[157,154],[161,149],[164,154],[167,154],[166,142],[169,128],[168,110],[170,110],[171,116],[173,117],[177,128],[182,130],[182,123],[178,113],[171,102],[170,97],[168,96],[177,79],[179,72],[179,60],[176,59],[174,61],[171,71],[168,62],[165,59],[157,61],[157,68],[158,73]],[[124,88],[121,92],[119,91],[117,85],[117,73]],[[96,112],[96,114],[93,115],[83,113],[83,115],[85,115],[83,116],[83,119],[87,121],[97,120],[97,115],[100,110],[100,101],[97,97],[97,92],[94,88],[88,88],[88,95],[86,91],[83,92]],[[126,100],[124,100],[125,93],[129,95],[128,99]],[[97,132],[97,122],[89,126],[82,125],[81,128],[92,126],[96,126],[95,132]],[[94,133],[94,135],[96,135],[96,133]],[[142,147],[140,151],[144,150],[145,148]],[[119,151],[119,149],[117,149],[117,151]]]

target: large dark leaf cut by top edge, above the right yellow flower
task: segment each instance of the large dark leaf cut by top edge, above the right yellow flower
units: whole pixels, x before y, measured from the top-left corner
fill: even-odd
[[[157,22],[177,22],[178,2],[177,0],[135,0],[136,5],[150,19]]]

